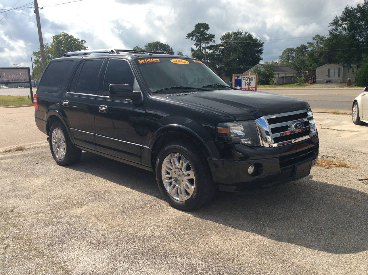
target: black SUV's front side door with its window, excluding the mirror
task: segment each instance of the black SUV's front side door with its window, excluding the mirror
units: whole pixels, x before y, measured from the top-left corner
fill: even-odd
[[[129,84],[139,90],[128,61],[110,59],[102,85],[102,106],[95,118],[97,151],[141,163],[145,104],[110,98],[110,84]]]

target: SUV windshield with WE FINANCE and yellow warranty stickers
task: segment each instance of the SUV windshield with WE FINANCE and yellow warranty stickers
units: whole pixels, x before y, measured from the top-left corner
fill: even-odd
[[[160,57],[136,59],[135,62],[151,92],[170,93],[172,89],[183,88],[186,91],[190,88],[202,91],[231,89],[199,60]]]

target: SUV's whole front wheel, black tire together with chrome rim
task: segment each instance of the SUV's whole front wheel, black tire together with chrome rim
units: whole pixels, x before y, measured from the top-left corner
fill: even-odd
[[[188,141],[164,145],[156,160],[156,180],[165,200],[185,211],[208,203],[217,190],[205,157]]]

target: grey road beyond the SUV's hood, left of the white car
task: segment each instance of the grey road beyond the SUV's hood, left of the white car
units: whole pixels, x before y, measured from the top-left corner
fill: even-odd
[[[362,89],[260,89],[265,92],[303,99],[313,109],[351,111],[354,98]]]

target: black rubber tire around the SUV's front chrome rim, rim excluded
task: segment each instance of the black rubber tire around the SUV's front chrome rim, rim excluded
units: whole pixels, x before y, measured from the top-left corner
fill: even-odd
[[[171,197],[169,195],[169,193],[167,192],[166,188],[164,187],[163,181],[162,181],[162,176],[161,176],[161,168],[162,168],[162,163],[164,161],[164,159],[166,158],[167,155],[171,154],[171,153],[178,153],[183,155],[190,163],[193,171],[194,171],[194,175],[195,175],[195,186],[194,186],[194,192],[191,195],[190,198],[188,198],[188,200],[186,201],[177,201],[175,200],[173,197]],[[197,156],[192,156],[192,153],[186,149],[184,146],[182,145],[165,145],[163,147],[163,149],[160,151],[158,158],[156,160],[156,180],[157,180],[157,184],[158,187],[161,191],[161,193],[163,194],[165,200],[167,202],[169,202],[169,204],[173,205],[174,207],[180,208],[180,209],[190,209],[190,208],[194,208],[196,207],[197,204],[201,203],[201,200],[203,199],[203,194],[202,194],[202,184],[204,183],[204,174],[207,173],[200,173],[203,169],[203,164],[201,165],[200,163],[200,159],[197,158]],[[202,169],[201,169],[202,168]]]

